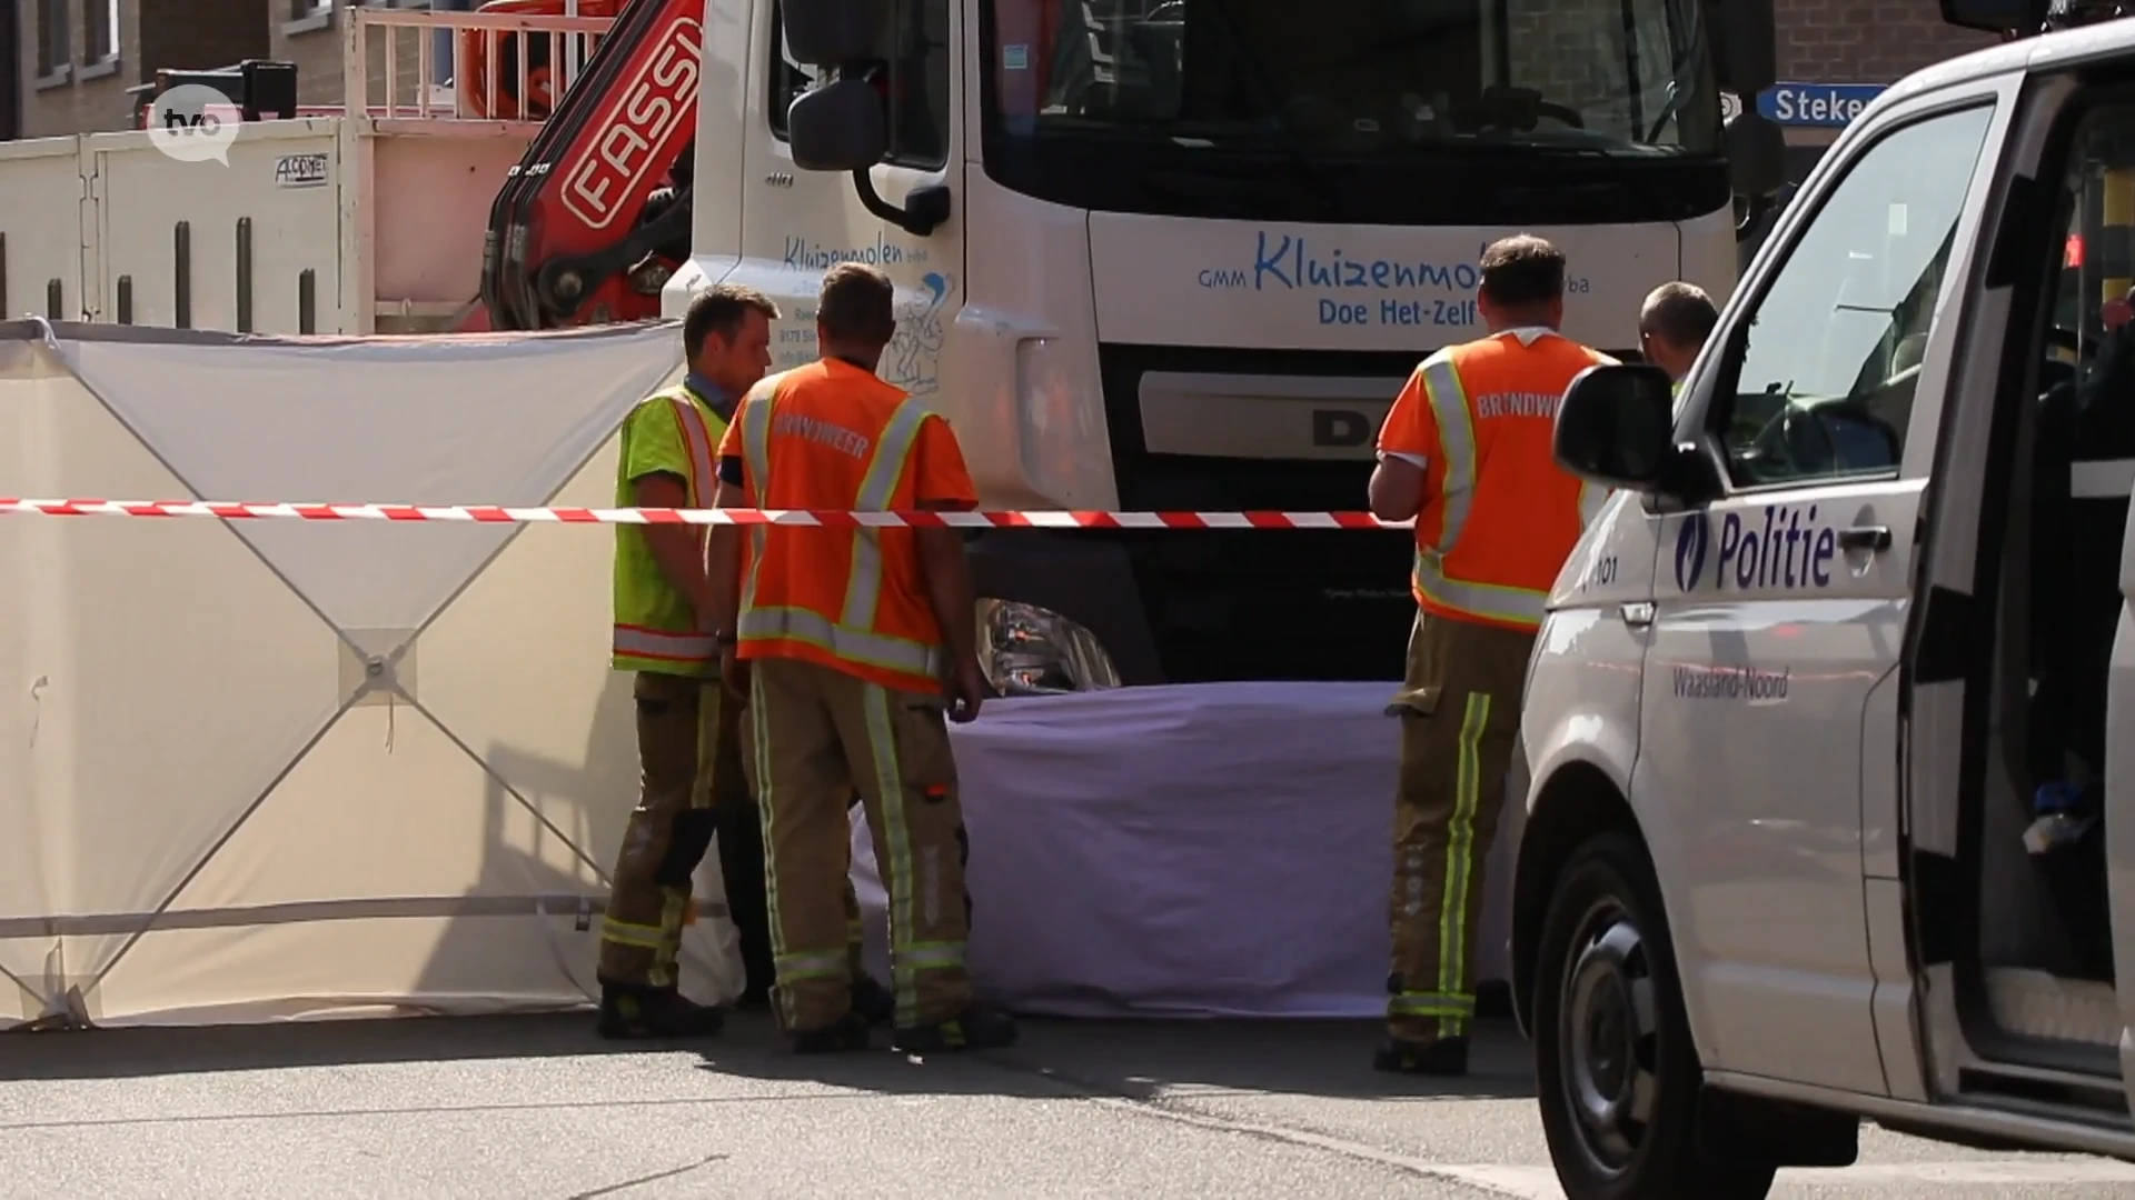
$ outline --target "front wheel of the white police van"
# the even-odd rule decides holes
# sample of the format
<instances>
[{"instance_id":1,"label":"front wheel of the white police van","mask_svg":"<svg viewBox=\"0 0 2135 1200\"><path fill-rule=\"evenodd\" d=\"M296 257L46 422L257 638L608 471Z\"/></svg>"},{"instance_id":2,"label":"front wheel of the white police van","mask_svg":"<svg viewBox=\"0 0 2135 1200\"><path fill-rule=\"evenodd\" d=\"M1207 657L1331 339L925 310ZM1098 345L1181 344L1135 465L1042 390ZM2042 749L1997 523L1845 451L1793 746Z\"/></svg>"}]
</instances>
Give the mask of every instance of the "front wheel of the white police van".
<instances>
[{"instance_id":1,"label":"front wheel of the white police van","mask_svg":"<svg viewBox=\"0 0 2135 1200\"><path fill-rule=\"evenodd\" d=\"M1620 833L1556 882L1535 963L1541 1132L1569 1200L1761 1200L1776 1166L1702 1144L1702 1068L1661 886Z\"/></svg>"}]
</instances>

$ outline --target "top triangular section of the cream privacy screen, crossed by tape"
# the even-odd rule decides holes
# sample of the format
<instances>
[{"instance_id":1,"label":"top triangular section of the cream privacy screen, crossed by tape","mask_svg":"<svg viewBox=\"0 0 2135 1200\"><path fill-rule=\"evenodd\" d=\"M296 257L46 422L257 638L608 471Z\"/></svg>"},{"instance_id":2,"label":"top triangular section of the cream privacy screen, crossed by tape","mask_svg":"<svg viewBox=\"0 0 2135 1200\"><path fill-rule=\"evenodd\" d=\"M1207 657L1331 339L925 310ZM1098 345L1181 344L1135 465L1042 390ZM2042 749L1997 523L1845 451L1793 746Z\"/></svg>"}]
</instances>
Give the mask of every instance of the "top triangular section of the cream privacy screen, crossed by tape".
<instances>
[{"instance_id":1,"label":"top triangular section of the cream privacy screen, crossed by tape","mask_svg":"<svg viewBox=\"0 0 2135 1200\"><path fill-rule=\"evenodd\" d=\"M677 361L630 340L327 342L254 348L233 389L222 346L66 350L194 495L384 504L542 504ZM393 493L376 493L386 480ZM335 626L414 630L510 530L254 523L239 536Z\"/></svg>"}]
</instances>

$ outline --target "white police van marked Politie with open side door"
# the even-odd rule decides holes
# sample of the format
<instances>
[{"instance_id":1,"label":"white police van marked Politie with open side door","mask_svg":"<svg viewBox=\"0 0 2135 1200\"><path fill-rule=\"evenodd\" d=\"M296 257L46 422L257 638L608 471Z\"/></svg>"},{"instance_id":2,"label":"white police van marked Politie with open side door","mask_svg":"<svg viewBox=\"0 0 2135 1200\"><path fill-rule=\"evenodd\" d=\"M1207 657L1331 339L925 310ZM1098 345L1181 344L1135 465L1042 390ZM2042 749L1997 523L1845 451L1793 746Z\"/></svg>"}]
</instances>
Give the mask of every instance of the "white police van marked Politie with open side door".
<instances>
[{"instance_id":1,"label":"white police van marked Politie with open side door","mask_svg":"<svg viewBox=\"0 0 2135 1200\"><path fill-rule=\"evenodd\" d=\"M1531 664L1512 961L1573 1200L1766 1196L1864 1117L2135 1159L2131 226L2135 21L1971 53L1680 399L1565 393L1618 493Z\"/></svg>"}]
</instances>

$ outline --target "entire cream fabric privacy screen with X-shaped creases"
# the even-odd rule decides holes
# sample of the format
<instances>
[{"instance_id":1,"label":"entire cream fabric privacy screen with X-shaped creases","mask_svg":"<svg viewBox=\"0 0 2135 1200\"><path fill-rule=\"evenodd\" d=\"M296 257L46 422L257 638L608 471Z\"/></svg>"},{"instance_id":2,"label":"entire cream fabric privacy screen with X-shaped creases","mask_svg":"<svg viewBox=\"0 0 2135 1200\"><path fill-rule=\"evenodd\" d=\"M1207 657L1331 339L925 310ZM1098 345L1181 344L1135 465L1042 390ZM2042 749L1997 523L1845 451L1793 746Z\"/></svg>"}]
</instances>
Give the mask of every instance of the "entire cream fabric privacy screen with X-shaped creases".
<instances>
[{"instance_id":1,"label":"entire cream fabric privacy screen with X-shaped creases","mask_svg":"<svg viewBox=\"0 0 2135 1200\"><path fill-rule=\"evenodd\" d=\"M0 325L0 495L604 506L677 342ZM636 799L611 555L606 527L0 517L0 1014L583 1004ZM698 888L717 914L715 865ZM698 922L683 986L739 993L734 950Z\"/></svg>"}]
</instances>

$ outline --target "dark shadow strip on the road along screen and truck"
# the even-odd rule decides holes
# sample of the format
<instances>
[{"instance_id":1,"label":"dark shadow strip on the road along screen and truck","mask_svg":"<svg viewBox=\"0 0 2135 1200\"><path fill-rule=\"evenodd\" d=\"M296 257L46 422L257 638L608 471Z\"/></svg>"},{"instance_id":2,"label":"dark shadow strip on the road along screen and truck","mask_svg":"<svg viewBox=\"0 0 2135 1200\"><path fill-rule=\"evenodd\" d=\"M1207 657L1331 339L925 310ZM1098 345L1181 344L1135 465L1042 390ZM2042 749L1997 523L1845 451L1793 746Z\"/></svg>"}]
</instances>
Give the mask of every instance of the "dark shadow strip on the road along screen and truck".
<instances>
[{"instance_id":1,"label":"dark shadow strip on the road along screen and truck","mask_svg":"<svg viewBox=\"0 0 2135 1200\"><path fill-rule=\"evenodd\" d=\"M81 1080L196 1072L694 1053L700 1070L888 1095L1196 1093L1317 1098L1531 1098L1529 1048L1512 1023L1477 1029L1467 1078L1371 1070L1371 1021L1040 1021L1008 1051L914 1059L888 1051L796 1057L769 1014L741 1012L709 1042L604 1042L589 1012L410 1016L286 1025L94 1029L0 1036L0 1078Z\"/></svg>"}]
</instances>

